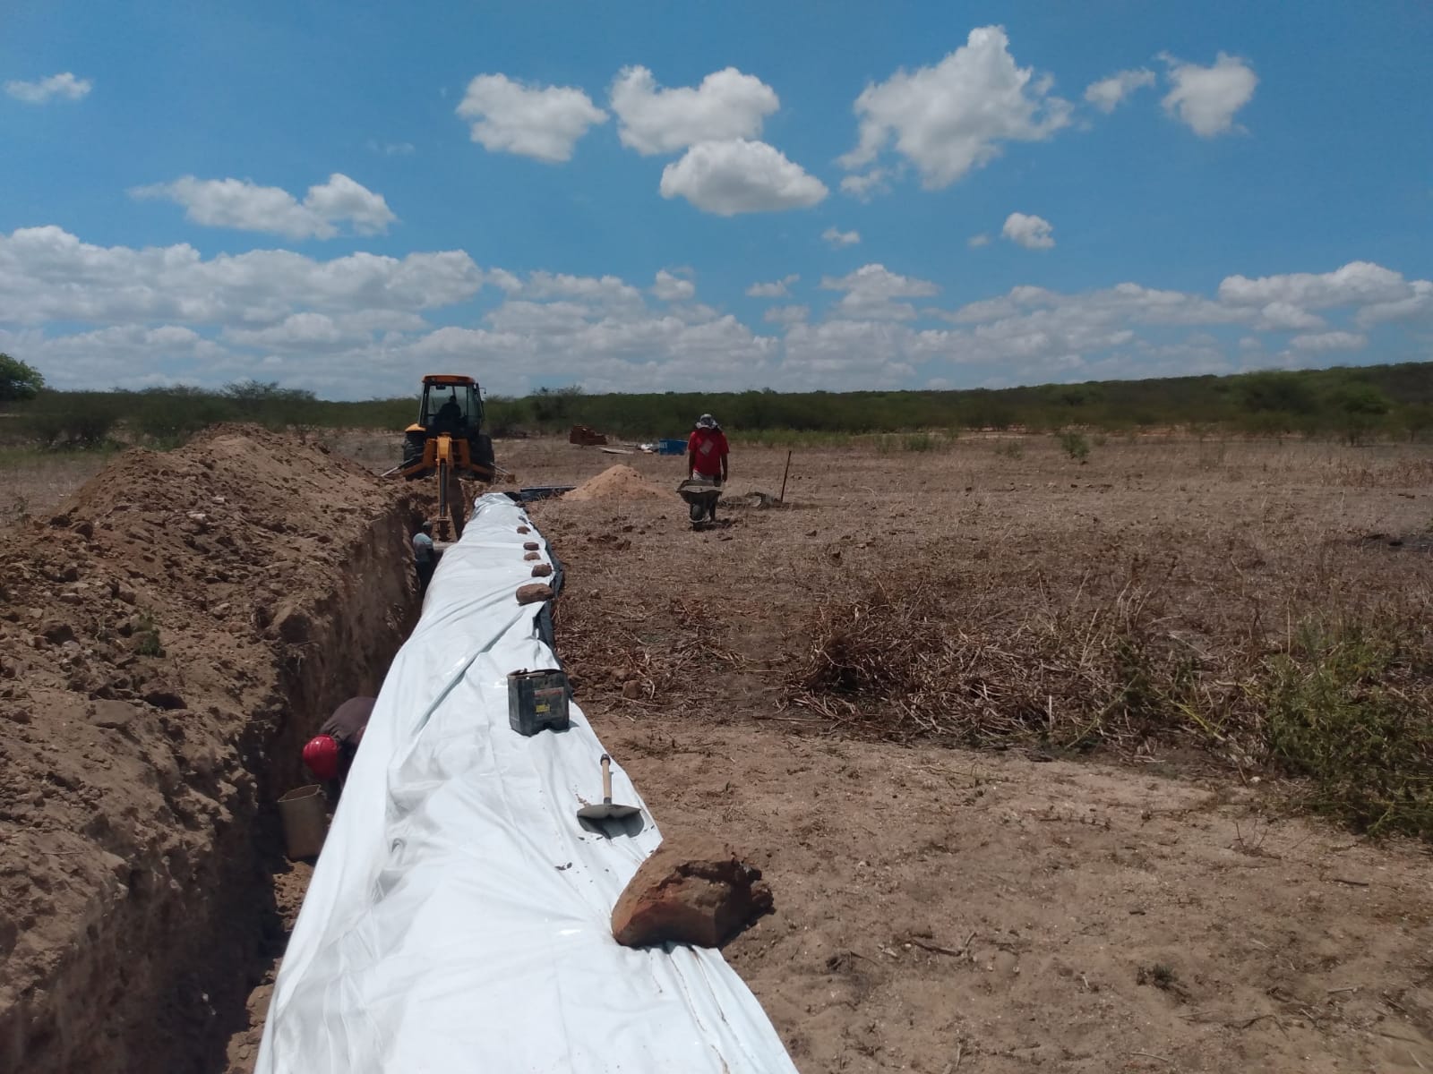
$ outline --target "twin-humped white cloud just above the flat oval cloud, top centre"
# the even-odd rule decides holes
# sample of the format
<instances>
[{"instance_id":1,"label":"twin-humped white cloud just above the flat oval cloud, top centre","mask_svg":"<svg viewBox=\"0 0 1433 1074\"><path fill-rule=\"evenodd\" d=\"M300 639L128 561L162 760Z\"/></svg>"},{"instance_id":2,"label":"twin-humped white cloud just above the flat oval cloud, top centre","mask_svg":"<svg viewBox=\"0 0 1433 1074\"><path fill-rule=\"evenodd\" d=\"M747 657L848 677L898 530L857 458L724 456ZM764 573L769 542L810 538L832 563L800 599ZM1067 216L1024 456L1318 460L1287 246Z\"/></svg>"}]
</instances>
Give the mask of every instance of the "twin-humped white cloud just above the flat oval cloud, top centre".
<instances>
[{"instance_id":1,"label":"twin-humped white cloud just above the flat oval cloud, top centre","mask_svg":"<svg viewBox=\"0 0 1433 1074\"><path fill-rule=\"evenodd\" d=\"M777 92L754 74L725 67L696 87L662 89L646 67L623 67L609 95L622 145L651 156L698 142L754 139L781 107Z\"/></svg>"}]
</instances>

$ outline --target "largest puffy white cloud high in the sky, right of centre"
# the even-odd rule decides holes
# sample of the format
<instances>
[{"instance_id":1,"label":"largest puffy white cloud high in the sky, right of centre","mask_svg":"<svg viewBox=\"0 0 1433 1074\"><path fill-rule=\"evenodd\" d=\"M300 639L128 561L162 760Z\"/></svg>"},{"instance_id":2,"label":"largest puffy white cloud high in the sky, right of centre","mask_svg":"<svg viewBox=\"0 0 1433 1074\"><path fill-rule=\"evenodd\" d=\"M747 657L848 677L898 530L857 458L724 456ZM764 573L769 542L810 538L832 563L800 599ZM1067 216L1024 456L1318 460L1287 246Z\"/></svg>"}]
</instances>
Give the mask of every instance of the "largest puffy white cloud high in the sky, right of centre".
<instances>
[{"instance_id":1,"label":"largest puffy white cloud high in the sky, right of centre","mask_svg":"<svg viewBox=\"0 0 1433 1074\"><path fill-rule=\"evenodd\" d=\"M841 165L864 168L894 140L927 189L949 186L1002 142L1040 142L1069 125L1069 102L1050 84L1015 64L1002 27L979 27L940 63L867 86L854 106L860 140Z\"/></svg>"}]
</instances>

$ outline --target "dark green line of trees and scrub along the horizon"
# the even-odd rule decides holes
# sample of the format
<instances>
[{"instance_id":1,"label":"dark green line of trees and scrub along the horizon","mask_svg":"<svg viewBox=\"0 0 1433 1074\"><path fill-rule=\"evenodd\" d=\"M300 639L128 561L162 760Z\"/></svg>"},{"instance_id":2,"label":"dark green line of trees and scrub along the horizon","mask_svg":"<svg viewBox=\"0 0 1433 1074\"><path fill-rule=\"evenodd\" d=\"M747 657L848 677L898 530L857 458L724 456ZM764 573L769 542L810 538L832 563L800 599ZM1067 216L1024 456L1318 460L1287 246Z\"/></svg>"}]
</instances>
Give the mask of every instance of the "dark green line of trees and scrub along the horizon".
<instances>
[{"instance_id":1,"label":"dark green line of trees and scrub along the horizon","mask_svg":"<svg viewBox=\"0 0 1433 1074\"><path fill-rule=\"evenodd\" d=\"M493 395L484 407L487 428L496 437L566 432L575 424L628 440L685 437L699 414L711 412L737 438L1187 428L1337 435L1351 442L1424 440L1433 437L1433 362L949 391L598 395L543 388L522 398ZM0 355L0 412L11 418L0 430L10 442L83 448L125 434L129 441L166 447L231 421L398 432L417 414L417 392L340 402L252 379L222 388L54 391L32 367Z\"/></svg>"}]
</instances>

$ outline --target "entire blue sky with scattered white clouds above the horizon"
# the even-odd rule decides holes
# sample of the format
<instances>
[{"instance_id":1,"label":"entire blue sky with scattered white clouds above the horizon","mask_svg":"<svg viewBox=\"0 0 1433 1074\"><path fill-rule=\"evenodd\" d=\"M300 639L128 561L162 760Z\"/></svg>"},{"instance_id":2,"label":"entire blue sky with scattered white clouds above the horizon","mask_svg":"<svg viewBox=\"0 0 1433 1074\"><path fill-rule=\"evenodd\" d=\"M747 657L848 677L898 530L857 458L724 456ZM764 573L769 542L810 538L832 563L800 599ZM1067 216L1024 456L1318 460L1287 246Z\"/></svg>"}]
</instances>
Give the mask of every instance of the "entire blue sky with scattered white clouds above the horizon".
<instances>
[{"instance_id":1,"label":"entire blue sky with scattered white clouds above the horizon","mask_svg":"<svg viewBox=\"0 0 1433 1074\"><path fill-rule=\"evenodd\" d=\"M997 387L1433 351L1424 3L0 19L0 349L56 387Z\"/></svg>"}]
</instances>

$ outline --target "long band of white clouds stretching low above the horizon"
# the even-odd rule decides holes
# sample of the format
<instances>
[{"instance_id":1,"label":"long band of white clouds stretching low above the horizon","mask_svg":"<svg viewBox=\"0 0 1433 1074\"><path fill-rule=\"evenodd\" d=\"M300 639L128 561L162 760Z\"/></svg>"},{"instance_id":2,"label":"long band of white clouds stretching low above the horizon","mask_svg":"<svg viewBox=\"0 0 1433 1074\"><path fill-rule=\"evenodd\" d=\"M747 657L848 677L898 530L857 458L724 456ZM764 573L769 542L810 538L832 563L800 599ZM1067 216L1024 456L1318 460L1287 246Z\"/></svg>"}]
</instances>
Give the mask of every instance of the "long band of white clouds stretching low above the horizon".
<instances>
[{"instance_id":1,"label":"long band of white clouds stretching low above the horizon","mask_svg":"<svg viewBox=\"0 0 1433 1074\"><path fill-rule=\"evenodd\" d=\"M63 388L282 375L365 398L407 391L434 364L451 364L504 394L545 382L837 391L1232 372L1275 354L1290 367L1413 358L1426 349L1413 321L1433 315L1433 282L1370 262L1230 276L1217 295L1022 285L976 292L952 311L931 308L933 281L870 263L824 278L810 306L782 302L749 325L695 301L691 282L681 266L643 286L610 274L483 269L463 251L205 258L182 243L96 246L56 226L21 228L0 233L0 351ZM795 282L749 292L781 299ZM497 301L470 305L484 288ZM1356 331L1366 315L1377 339ZM1304 324L1313 326L1295 326Z\"/></svg>"}]
</instances>

